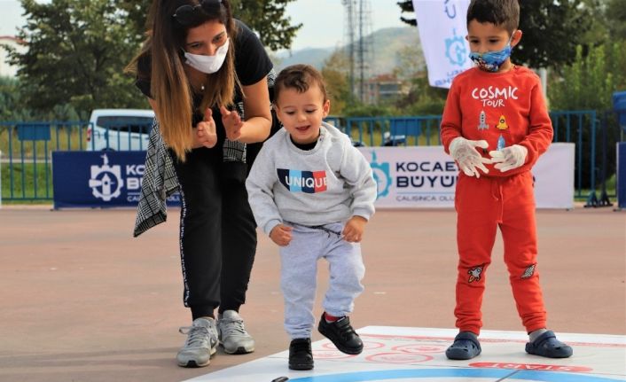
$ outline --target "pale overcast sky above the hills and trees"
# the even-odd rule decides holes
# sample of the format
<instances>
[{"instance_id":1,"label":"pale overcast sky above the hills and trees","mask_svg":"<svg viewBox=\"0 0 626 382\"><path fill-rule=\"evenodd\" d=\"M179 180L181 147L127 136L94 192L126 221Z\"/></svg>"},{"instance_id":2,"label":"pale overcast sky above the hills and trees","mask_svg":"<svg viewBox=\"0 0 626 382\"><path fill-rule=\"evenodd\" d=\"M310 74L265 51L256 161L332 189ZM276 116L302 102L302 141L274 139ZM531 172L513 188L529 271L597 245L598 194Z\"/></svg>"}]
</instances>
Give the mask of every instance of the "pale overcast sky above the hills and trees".
<instances>
[{"instance_id":1,"label":"pale overcast sky above the hills and trees","mask_svg":"<svg viewBox=\"0 0 626 382\"><path fill-rule=\"evenodd\" d=\"M400 8L395 4L397 0L369 1L372 31L383 27L406 26L400 21ZM15 35L15 28L24 25L21 13L18 0L0 0L0 35ZM287 5L287 14L293 23L302 23L293 41L293 51L345 43L345 15L341 0L296 0Z\"/></svg>"}]
</instances>

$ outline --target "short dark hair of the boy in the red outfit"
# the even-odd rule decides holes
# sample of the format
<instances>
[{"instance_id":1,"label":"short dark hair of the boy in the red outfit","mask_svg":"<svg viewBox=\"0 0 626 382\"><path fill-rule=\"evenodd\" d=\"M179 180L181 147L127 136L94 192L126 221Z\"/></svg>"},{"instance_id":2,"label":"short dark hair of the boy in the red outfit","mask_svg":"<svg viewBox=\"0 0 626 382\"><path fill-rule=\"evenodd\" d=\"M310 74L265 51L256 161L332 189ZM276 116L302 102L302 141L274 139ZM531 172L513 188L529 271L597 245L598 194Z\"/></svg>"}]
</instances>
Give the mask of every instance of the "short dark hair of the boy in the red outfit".
<instances>
[{"instance_id":1,"label":"short dark hair of the boy in the red outfit","mask_svg":"<svg viewBox=\"0 0 626 382\"><path fill-rule=\"evenodd\" d=\"M504 27L509 35L520 25L518 0L472 0L467 8L467 25L475 19Z\"/></svg>"}]
</instances>

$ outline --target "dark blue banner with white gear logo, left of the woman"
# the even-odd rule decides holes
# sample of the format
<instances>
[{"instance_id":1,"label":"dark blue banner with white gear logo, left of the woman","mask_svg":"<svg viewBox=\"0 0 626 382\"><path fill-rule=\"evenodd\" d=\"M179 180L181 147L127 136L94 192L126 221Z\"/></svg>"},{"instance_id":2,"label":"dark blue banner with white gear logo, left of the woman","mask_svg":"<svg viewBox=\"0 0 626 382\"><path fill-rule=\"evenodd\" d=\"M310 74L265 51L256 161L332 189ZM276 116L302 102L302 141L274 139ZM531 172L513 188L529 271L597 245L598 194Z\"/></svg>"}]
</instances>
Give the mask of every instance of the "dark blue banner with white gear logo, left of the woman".
<instances>
[{"instance_id":1,"label":"dark blue banner with white gear logo, left of the woman","mask_svg":"<svg viewBox=\"0 0 626 382\"><path fill-rule=\"evenodd\" d=\"M145 152L52 152L54 208L137 207L144 163Z\"/></svg>"}]
</instances>

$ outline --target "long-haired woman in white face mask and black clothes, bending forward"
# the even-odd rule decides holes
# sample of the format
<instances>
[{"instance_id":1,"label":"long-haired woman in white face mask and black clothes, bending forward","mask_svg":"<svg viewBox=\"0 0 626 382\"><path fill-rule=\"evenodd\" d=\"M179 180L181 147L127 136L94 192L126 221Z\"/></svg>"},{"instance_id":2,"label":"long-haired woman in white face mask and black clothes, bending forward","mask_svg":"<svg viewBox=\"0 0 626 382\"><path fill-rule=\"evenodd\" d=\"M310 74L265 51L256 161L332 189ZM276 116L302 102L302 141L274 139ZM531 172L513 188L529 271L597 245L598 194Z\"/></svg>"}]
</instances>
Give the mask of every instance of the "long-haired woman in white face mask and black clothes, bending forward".
<instances>
[{"instance_id":1,"label":"long-haired woman in white face mask and black clothes, bending forward","mask_svg":"<svg viewBox=\"0 0 626 382\"><path fill-rule=\"evenodd\" d=\"M181 328L188 337L176 358L206 366L218 341L229 354L254 351L239 316L256 250L246 144L270 134L272 64L228 0L154 1L149 27L130 68L156 113L153 136L168 148L181 195L184 305L193 321ZM151 160L149 148L146 173Z\"/></svg>"}]
</instances>

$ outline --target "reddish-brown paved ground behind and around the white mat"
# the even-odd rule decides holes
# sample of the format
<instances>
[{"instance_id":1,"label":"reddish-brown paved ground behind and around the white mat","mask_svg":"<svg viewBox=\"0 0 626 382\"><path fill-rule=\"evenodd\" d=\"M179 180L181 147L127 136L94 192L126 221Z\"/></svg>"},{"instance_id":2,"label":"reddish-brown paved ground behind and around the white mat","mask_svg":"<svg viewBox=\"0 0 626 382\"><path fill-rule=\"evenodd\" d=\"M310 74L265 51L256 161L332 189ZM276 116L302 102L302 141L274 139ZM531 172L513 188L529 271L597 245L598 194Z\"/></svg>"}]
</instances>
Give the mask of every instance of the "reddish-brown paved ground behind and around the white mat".
<instances>
[{"instance_id":1,"label":"reddish-brown paved ground behind and around the white mat","mask_svg":"<svg viewBox=\"0 0 626 382\"><path fill-rule=\"evenodd\" d=\"M0 208L0 381L179 381L285 350L278 247L260 233L240 312L256 351L176 366L178 328L191 324L178 218L170 209L168 222L132 238L131 209ZM356 328L454 327L455 219L451 209L377 212L364 236ZM626 335L626 213L539 210L537 226L549 327ZM326 278L320 267L316 316ZM484 329L522 331L500 238L487 280Z\"/></svg>"}]
</instances>

